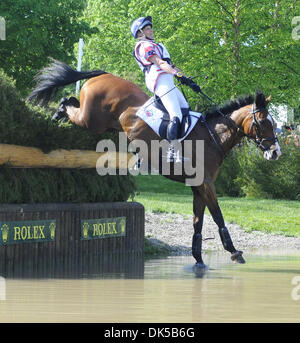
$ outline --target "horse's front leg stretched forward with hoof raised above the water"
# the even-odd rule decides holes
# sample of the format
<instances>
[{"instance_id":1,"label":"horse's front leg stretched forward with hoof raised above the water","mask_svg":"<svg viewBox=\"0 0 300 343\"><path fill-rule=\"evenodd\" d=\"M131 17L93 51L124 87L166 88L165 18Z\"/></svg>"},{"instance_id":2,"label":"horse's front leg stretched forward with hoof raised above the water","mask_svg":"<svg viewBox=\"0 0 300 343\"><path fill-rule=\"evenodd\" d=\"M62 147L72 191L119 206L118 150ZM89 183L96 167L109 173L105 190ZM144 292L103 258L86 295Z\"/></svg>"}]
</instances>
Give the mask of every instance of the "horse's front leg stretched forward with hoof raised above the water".
<instances>
[{"instance_id":1,"label":"horse's front leg stretched forward with hoof raised above the water","mask_svg":"<svg viewBox=\"0 0 300 343\"><path fill-rule=\"evenodd\" d=\"M225 250L231 253L231 259L237 263L245 263L245 260L242 256L243 252L236 250L233 242L231 240L229 231L225 226L223 215L218 204L217 195L215 187L213 184L205 184L205 196L206 196L206 205L209 209L210 214L213 217L214 222L218 225L219 235Z\"/></svg>"}]
</instances>

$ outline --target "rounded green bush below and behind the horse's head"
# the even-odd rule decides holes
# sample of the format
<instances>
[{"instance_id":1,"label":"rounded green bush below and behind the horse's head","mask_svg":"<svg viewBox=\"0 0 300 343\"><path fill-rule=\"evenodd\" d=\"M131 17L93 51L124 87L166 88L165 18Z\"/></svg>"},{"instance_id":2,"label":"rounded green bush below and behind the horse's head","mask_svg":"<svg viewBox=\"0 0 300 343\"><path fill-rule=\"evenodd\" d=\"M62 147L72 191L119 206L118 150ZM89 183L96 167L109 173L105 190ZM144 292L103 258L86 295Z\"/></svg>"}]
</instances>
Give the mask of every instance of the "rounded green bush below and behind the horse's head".
<instances>
[{"instance_id":1,"label":"rounded green bush below and behind the horse's head","mask_svg":"<svg viewBox=\"0 0 300 343\"><path fill-rule=\"evenodd\" d=\"M267 161L252 143L236 148L220 168L216 181L221 195L300 199L300 148L280 141L282 155Z\"/></svg>"}]
</instances>

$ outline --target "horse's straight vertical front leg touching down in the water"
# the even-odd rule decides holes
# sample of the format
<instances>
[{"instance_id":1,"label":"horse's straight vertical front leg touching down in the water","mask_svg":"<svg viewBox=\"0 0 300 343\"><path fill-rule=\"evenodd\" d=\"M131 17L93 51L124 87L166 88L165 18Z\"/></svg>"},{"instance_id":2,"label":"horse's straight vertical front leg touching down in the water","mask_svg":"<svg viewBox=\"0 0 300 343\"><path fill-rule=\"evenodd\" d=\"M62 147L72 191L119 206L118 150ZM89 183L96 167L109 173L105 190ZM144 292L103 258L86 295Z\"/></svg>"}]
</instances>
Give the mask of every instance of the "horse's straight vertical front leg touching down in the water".
<instances>
[{"instance_id":1,"label":"horse's straight vertical front leg touching down in the water","mask_svg":"<svg viewBox=\"0 0 300 343\"><path fill-rule=\"evenodd\" d=\"M205 200L203 199L203 193L198 188L192 187L193 191L193 212L194 212L194 235L192 241L192 255L196 260L195 267L197 269L206 269L207 266L202 260L202 226L205 210Z\"/></svg>"}]
</instances>

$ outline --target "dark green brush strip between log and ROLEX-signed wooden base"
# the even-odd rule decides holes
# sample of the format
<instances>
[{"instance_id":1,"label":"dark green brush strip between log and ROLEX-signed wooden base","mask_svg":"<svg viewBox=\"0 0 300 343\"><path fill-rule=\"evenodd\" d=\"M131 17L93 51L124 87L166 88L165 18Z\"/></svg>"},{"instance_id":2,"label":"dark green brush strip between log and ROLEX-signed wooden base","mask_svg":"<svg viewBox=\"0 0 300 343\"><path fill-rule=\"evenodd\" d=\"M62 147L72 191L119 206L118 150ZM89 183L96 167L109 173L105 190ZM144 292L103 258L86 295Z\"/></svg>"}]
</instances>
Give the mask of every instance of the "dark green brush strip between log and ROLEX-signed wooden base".
<instances>
[{"instance_id":1,"label":"dark green brush strip between log and ROLEX-signed wooden base","mask_svg":"<svg viewBox=\"0 0 300 343\"><path fill-rule=\"evenodd\" d=\"M0 167L0 203L127 201L135 187L127 176L99 176L96 170Z\"/></svg>"}]
</instances>

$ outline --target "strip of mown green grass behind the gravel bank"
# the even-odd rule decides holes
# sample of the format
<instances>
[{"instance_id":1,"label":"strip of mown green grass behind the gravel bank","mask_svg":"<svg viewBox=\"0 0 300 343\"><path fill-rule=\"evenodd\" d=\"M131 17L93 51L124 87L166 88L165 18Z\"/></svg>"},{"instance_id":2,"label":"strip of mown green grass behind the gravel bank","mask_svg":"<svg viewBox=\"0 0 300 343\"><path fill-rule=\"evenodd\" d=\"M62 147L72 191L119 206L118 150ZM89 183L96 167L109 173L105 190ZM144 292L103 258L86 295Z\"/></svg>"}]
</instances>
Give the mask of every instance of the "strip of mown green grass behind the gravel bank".
<instances>
[{"instance_id":1,"label":"strip of mown green grass behind the gravel bank","mask_svg":"<svg viewBox=\"0 0 300 343\"><path fill-rule=\"evenodd\" d=\"M160 175L138 175L139 194L135 201L146 211L193 214L190 187ZM300 237L300 201L220 197L219 204L226 222L236 223L246 231ZM209 212L206 210L206 213Z\"/></svg>"}]
</instances>

